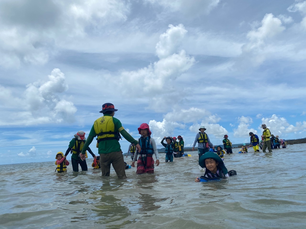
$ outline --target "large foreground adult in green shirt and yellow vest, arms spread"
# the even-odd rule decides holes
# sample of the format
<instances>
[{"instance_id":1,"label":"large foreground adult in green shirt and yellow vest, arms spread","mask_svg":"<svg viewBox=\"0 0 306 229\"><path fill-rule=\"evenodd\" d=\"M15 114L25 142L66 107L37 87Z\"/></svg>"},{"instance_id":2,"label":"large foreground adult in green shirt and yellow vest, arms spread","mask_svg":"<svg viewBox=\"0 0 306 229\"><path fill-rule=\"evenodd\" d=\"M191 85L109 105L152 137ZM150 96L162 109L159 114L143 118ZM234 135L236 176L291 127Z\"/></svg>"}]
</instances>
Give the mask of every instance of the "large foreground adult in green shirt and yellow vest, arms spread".
<instances>
[{"instance_id":1,"label":"large foreground adult in green shirt and yellow vest, arms spread","mask_svg":"<svg viewBox=\"0 0 306 229\"><path fill-rule=\"evenodd\" d=\"M80 156L83 157L92 140L98 136L97 147L100 154L102 176L110 176L110 165L112 164L118 178L125 179L125 165L119 144L119 138L121 138L119 133L127 141L135 144L138 152L141 151L141 148L138 141L126 132L119 119L114 118L115 111L118 110L115 109L114 104L106 103L102 105L102 111L99 112L103 113L103 116L92 125Z\"/></svg>"}]
</instances>

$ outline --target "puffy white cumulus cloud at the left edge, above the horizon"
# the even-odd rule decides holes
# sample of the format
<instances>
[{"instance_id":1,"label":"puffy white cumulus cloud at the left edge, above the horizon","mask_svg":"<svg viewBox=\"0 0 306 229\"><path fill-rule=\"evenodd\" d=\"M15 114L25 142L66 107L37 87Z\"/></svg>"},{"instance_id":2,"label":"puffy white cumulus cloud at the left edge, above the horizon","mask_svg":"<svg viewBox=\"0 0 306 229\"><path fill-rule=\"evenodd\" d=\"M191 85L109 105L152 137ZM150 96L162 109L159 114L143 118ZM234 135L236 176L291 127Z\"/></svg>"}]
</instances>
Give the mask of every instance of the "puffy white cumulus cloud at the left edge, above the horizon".
<instances>
[{"instance_id":1,"label":"puffy white cumulus cloud at the left edge, above the horizon","mask_svg":"<svg viewBox=\"0 0 306 229\"><path fill-rule=\"evenodd\" d=\"M65 76L60 69L55 68L48 76L49 80L30 83L21 98L14 96L12 91L0 85L0 95L4 94L3 104L11 104L18 109L17 115L2 120L2 125L14 125L21 118L25 125L35 125L52 122L73 122L76 107L72 102L60 96L68 89Z\"/></svg>"}]
</instances>

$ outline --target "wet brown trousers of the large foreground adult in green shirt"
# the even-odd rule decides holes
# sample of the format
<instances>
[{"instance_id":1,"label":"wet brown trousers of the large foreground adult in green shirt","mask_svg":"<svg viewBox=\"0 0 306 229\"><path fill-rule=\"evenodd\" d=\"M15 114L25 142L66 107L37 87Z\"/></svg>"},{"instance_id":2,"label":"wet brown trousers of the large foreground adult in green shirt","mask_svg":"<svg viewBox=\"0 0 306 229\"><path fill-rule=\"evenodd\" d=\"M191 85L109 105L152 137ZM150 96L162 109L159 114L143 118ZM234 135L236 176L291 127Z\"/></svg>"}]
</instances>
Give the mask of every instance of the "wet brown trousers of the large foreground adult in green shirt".
<instances>
[{"instance_id":1,"label":"wet brown trousers of the large foreground adult in green shirt","mask_svg":"<svg viewBox=\"0 0 306 229\"><path fill-rule=\"evenodd\" d=\"M110 164L113 165L119 179L126 178L122 151L100 154L102 176L110 176Z\"/></svg>"}]
</instances>

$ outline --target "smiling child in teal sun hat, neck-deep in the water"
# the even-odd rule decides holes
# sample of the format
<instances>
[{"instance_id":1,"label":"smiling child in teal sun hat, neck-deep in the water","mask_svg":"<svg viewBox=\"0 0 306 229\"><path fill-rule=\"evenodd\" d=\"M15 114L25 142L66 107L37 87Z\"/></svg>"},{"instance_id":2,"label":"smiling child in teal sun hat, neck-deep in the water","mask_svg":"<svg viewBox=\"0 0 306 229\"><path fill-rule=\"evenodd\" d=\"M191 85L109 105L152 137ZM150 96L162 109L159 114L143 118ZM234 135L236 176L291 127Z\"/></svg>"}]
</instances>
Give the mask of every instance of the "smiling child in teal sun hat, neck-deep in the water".
<instances>
[{"instance_id":1,"label":"smiling child in teal sun hat, neck-deep in the water","mask_svg":"<svg viewBox=\"0 0 306 229\"><path fill-rule=\"evenodd\" d=\"M227 169L222 159L215 153L206 152L199 159L199 165L205 168L204 177L207 178L222 178L224 176L230 176L227 173ZM196 178L195 182L200 182L199 177Z\"/></svg>"}]
</instances>

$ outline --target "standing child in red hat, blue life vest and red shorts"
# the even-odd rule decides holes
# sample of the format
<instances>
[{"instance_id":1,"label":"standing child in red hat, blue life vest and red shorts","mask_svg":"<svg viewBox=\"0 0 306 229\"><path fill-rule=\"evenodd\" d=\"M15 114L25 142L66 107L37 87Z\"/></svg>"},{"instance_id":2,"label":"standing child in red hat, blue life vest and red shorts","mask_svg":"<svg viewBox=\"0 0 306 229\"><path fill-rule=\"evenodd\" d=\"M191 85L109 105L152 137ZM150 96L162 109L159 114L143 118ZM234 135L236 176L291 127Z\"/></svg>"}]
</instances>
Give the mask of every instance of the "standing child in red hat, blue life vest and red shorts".
<instances>
[{"instance_id":1,"label":"standing child in red hat, blue life vest and red shorts","mask_svg":"<svg viewBox=\"0 0 306 229\"><path fill-rule=\"evenodd\" d=\"M151 138L151 131L149 125L147 123L143 123L138 128L138 133L141 134L138 143L141 147L141 151L134 154L132 167L135 167L135 161L137 155L139 154L139 158L137 160L137 171L136 174L141 173L154 173L154 160L153 154L156 157L156 166L159 166L159 156L156 148L156 143L153 138Z\"/></svg>"}]
</instances>

